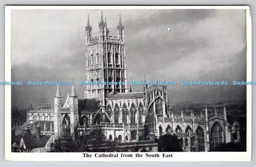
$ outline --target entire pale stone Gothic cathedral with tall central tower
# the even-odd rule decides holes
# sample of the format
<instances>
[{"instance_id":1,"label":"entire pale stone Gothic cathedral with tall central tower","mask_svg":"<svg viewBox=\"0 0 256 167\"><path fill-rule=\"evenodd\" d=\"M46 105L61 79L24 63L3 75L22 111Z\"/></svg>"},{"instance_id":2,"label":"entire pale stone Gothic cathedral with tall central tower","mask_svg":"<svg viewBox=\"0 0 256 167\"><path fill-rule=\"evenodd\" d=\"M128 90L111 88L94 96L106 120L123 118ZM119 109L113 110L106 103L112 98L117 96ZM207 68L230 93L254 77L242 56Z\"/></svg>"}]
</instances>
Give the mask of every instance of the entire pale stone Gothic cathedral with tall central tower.
<instances>
[{"instance_id":1,"label":"entire pale stone Gothic cathedral with tall central tower","mask_svg":"<svg viewBox=\"0 0 256 167\"><path fill-rule=\"evenodd\" d=\"M209 151L229 142L239 133L237 122L229 125L224 105L168 109L167 86L143 86L143 91L127 89L124 26L117 21L117 36L110 36L101 13L99 35L92 36L89 17L86 30L84 81L125 82L125 85L87 85L84 99L78 99L74 86L63 101L60 88L53 108L28 111L27 125L41 133L61 137L101 128L106 139L119 142L147 140L148 136L177 134L184 151ZM236 128L234 128L236 127ZM237 134L239 136L239 134ZM238 137L239 139L239 137Z\"/></svg>"}]
</instances>

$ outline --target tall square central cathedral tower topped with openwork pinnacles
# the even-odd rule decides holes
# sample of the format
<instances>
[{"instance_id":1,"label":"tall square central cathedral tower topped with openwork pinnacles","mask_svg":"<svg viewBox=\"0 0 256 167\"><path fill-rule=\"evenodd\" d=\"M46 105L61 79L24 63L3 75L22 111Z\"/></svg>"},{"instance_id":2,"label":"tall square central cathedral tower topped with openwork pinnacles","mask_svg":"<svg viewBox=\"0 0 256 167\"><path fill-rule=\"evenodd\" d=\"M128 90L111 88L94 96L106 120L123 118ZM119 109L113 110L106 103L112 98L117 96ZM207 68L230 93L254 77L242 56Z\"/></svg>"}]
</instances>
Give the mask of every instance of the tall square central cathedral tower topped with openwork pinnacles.
<instances>
[{"instance_id":1,"label":"tall square central cathedral tower topped with openwork pinnacles","mask_svg":"<svg viewBox=\"0 0 256 167\"><path fill-rule=\"evenodd\" d=\"M102 11L98 23L99 34L92 37L89 17L86 25L86 70L84 81L87 82L125 82L124 85L86 85L85 99L97 99L105 105L105 96L110 92L127 92L127 71L124 46L124 26L119 17L117 37L109 36L109 28Z\"/></svg>"}]
</instances>

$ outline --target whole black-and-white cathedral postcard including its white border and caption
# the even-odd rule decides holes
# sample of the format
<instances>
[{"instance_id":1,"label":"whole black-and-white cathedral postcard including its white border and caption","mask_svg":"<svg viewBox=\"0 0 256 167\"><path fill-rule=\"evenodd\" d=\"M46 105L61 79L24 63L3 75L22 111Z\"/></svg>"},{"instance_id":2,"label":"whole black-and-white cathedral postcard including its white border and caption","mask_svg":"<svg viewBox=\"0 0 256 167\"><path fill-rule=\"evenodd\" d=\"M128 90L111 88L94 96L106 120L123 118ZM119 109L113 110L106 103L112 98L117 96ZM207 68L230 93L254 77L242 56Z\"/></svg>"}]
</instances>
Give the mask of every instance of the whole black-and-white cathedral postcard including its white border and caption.
<instances>
[{"instance_id":1,"label":"whole black-and-white cathedral postcard including its white border and caption","mask_svg":"<svg viewBox=\"0 0 256 167\"><path fill-rule=\"evenodd\" d=\"M250 157L256 82L247 6L6 13L10 160Z\"/></svg>"}]
</instances>

